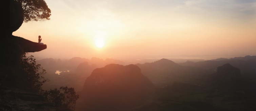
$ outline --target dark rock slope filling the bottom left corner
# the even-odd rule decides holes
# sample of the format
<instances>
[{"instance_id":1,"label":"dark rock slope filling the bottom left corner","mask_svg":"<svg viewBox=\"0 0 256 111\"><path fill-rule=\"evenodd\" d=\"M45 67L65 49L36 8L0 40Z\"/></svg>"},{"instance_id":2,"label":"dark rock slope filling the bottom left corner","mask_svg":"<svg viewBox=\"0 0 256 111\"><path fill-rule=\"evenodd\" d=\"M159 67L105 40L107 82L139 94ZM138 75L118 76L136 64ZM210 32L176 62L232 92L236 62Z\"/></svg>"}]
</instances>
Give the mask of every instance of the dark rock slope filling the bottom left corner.
<instances>
[{"instance_id":1,"label":"dark rock slope filling the bottom left corner","mask_svg":"<svg viewBox=\"0 0 256 111\"><path fill-rule=\"evenodd\" d=\"M3 88L0 98L1 111L58 111L51 103L37 93L17 88Z\"/></svg>"}]
</instances>

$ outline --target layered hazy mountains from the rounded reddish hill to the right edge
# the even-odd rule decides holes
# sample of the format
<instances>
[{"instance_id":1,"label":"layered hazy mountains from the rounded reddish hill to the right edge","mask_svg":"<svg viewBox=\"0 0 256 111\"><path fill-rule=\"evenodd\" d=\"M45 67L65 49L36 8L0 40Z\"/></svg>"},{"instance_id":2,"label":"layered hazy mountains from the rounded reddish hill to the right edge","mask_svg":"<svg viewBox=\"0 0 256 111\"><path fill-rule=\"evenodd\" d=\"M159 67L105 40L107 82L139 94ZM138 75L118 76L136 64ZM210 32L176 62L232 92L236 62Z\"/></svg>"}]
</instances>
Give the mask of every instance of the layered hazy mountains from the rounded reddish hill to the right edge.
<instances>
[{"instance_id":1,"label":"layered hazy mountains from the rounded reddish hill to the right edge","mask_svg":"<svg viewBox=\"0 0 256 111\"><path fill-rule=\"evenodd\" d=\"M253 58L108 64L93 70L85 80L80 92L83 100L77 109L255 111L256 60ZM83 62L77 69L92 66Z\"/></svg>"}]
</instances>

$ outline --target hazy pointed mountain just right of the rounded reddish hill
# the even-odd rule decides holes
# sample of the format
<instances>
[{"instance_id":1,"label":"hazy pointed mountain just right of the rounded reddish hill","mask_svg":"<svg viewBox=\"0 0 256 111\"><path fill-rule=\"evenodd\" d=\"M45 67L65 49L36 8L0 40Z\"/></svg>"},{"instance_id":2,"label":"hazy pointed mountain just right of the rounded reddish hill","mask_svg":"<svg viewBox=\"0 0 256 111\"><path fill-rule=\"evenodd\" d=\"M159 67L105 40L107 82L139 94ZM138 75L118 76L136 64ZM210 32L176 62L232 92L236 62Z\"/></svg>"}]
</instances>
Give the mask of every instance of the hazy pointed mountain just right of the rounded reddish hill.
<instances>
[{"instance_id":1,"label":"hazy pointed mountain just right of the rounded reddish hill","mask_svg":"<svg viewBox=\"0 0 256 111\"><path fill-rule=\"evenodd\" d=\"M174 81L186 81L206 73L202 68L183 66L168 59L135 65L139 66L142 74L157 86L171 84Z\"/></svg>"}]
</instances>

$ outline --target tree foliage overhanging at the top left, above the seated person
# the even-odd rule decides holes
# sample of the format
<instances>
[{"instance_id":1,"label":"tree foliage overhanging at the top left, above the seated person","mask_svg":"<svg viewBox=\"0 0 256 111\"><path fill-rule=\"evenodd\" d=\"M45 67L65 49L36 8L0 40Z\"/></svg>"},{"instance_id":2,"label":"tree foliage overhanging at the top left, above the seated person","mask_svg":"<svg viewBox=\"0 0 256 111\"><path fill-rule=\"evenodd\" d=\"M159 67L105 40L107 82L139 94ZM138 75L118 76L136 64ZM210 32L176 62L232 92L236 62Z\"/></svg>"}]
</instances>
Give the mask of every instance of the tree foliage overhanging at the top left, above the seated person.
<instances>
[{"instance_id":1,"label":"tree foliage overhanging at the top left, above the seated person","mask_svg":"<svg viewBox=\"0 0 256 111\"><path fill-rule=\"evenodd\" d=\"M16 0L24 9L24 22L50 20L51 9L44 0Z\"/></svg>"}]
</instances>

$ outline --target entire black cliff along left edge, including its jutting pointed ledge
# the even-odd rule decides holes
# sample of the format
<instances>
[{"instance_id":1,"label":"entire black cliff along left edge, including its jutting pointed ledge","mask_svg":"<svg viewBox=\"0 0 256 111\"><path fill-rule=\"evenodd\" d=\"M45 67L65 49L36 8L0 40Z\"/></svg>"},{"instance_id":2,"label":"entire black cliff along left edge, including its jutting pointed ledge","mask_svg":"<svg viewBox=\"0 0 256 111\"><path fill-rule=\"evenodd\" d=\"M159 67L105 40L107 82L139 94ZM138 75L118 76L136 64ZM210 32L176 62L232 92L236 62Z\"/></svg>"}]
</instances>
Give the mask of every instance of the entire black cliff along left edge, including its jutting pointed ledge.
<instances>
[{"instance_id":1,"label":"entire black cliff along left edge, including its jutting pointed ledge","mask_svg":"<svg viewBox=\"0 0 256 111\"><path fill-rule=\"evenodd\" d=\"M22 4L20 2L9 0L9 3L9 15L3 13L3 16L9 18L9 21L3 21L4 23L0 33L0 110L55 111L56 108L45 102L41 98L41 95L14 88L16 87L13 85L13 83L15 83L14 80L20 79L15 75L20 73L17 72L17 69L21 61L21 55L26 52L42 51L46 49L47 46L12 35L12 33L18 30L22 25L24 17ZM48 107L50 109L48 109Z\"/></svg>"}]
</instances>

